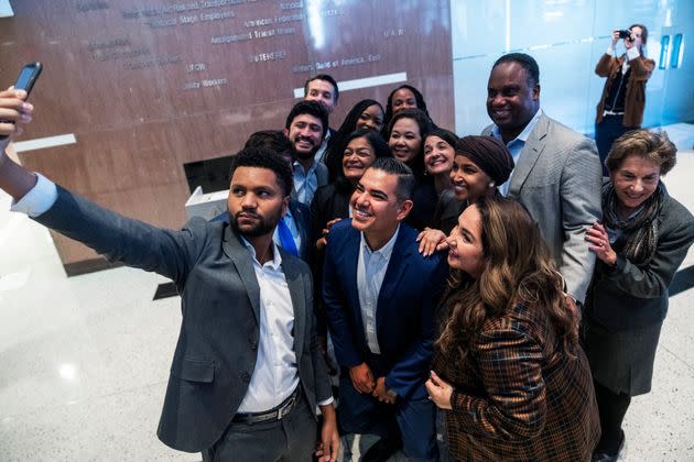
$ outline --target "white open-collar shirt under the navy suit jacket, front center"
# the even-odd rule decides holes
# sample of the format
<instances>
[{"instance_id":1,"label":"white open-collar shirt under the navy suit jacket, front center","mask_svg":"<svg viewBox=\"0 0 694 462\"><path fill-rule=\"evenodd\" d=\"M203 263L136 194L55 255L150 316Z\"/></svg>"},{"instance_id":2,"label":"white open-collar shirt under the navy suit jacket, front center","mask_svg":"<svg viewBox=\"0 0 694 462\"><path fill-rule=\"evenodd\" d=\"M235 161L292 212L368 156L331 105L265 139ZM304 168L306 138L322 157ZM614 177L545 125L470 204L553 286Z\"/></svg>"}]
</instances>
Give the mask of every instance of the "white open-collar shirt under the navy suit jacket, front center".
<instances>
[{"instance_id":1,"label":"white open-collar shirt under the navy suit jacket, front center","mask_svg":"<svg viewBox=\"0 0 694 462\"><path fill-rule=\"evenodd\" d=\"M366 333L367 345L373 354L381 354L376 331L376 310L378 308L378 295L383 285L383 278L388 271L388 263L395 246L400 226L390 238L390 241L377 251L372 251L367 243L364 233L359 243L359 263L357 264L357 290L359 292L359 305L361 308L361 322Z\"/></svg>"}]
</instances>

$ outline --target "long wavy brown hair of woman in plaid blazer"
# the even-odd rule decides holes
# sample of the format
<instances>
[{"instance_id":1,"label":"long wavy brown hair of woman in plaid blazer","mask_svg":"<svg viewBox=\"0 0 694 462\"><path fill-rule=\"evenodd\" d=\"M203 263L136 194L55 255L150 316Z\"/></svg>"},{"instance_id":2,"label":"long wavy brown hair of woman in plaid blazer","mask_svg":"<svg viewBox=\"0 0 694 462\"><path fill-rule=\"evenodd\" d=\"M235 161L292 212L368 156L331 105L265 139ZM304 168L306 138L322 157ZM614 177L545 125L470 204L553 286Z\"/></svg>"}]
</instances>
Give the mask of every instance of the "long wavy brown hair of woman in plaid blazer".
<instances>
[{"instance_id":1,"label":"long wavy brown hair of woman in plaid blazer","mask_svg":"<svg viewBox=\"0 0 694 462\"><path fill-rule=\"evenodd\" d=\"M470 207L481 215L484 268L477 279L452 271L444 296L449 315L437 346L445 355L465 358L485 321L523 304L546 311L560 348L574 356L578 315L566 301L564 279L528 210L501 196L481 197Z\"/></svg>"}]
</instances>

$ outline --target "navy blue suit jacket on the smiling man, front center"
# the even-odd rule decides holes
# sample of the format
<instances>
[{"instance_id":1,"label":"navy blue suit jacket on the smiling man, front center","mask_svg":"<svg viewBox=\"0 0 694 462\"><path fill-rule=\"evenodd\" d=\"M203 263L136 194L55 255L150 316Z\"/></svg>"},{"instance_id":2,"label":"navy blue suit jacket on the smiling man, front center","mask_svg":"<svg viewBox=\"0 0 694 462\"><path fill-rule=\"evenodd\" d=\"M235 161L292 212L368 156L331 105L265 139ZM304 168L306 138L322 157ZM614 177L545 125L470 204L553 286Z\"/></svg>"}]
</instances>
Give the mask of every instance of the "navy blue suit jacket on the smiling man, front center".
<instances>
[{"instance_id":1,"label":"navy blue suit jacket on the smiling man, front center","mask_svg":"<svg viewBox=\"0 0 694 462\"><path fill-rule=\"evenodd\" d=\"M376 333L388 371L386 386L404 399L426 396L423 384L432 356L434 307L447 273L442 253L426 258L420 254L416 235L415 230L400 224L376 310ZM335 356L343 367L361 364L369 354L357 288L359 250L360 232L351 220L333 227L323 299Z\"/></svg>"}]
</instances>

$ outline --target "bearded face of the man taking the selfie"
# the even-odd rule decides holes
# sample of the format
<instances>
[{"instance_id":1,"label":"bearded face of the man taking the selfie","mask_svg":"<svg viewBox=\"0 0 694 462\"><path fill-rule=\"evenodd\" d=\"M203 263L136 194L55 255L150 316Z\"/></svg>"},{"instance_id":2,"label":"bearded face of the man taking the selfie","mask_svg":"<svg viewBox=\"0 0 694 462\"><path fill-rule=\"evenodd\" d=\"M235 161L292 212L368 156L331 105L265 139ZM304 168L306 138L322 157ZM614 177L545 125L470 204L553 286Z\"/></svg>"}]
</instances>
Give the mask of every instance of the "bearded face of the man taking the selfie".
<instances>
[{"instance_id":1,"label":"bearded face of the man taking the selfie","mask_svg":"<svg viewBox=\"0 0 694 462\"><path fill-rule=\"evenodd\" d=\"M271 234L286 212L289 196L274 172L260 167L238 167L231 177L227 207L231 226L242 235Z\"/></svg>"}]
</instances>

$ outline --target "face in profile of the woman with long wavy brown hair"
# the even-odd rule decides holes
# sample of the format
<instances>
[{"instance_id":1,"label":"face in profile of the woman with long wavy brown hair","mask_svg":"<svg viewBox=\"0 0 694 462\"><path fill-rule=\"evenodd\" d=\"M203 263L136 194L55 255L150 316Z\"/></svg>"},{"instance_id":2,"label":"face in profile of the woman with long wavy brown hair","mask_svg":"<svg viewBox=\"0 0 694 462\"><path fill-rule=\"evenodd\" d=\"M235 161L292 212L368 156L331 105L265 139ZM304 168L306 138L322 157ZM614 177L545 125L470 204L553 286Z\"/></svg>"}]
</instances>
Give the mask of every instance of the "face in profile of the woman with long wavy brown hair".
<instances>
[{"instance_id":1,"label":"face in profile of the woman with long wavy brown hair","mask_svg":"<svg viewBox=\"0 0 694 462\"><path fill-rule=\"evenodd\" d=\"M458 217L458 226L446 239L448 265L477 279L485 268L481 243L481 213L476 206L466 208Z\"/></svg>"}]
</instances>

